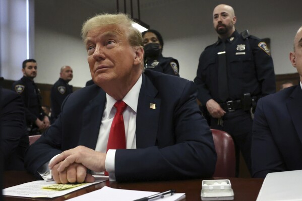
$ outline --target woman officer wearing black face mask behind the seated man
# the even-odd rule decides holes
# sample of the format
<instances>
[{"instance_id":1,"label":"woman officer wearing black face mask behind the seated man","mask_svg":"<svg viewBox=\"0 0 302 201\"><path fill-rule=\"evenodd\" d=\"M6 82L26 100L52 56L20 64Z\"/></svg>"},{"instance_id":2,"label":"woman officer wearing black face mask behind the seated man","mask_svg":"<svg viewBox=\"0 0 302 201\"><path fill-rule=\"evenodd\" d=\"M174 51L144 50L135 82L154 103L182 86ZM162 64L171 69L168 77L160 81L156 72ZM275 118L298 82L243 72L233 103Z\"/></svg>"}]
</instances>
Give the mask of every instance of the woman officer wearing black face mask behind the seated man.
<instances>
[{"instance_id":1,"label":"woman officer wearing black face mask behind the seated man","mask_svg":"<svg viewBox=\"0 0 302 201\"><path fill-rule=\"evenodd\" d=\"M142 34L145 49L145 69L179 77L178 61L172 57L163 57L161 54L163 40L160 33L150 29Z\"/></svg>"}]
</instances>

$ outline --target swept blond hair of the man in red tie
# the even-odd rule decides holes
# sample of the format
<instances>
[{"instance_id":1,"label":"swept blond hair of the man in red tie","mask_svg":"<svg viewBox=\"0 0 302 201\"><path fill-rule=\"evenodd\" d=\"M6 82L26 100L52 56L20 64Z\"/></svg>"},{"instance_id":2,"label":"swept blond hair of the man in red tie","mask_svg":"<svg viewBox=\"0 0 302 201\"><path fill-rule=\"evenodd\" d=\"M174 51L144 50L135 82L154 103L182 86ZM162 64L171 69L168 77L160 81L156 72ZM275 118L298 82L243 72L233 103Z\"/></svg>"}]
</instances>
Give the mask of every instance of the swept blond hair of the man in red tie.
<instances>
[{"instance_id":1,"label":"swept blond hair of the man in red tie","mask_svg":"<svg viewBox=\"0 0 302 201\"><path fill-rule=\"evenodd\" d=\"M106 25L124 25L126 28L126 36L131 46L144 46L143 37L137 28L132 26L134 21L126 14L100 14L96 15L86 22L82 27L82 39L85 42L87 33L95 28Z\"/></svg>"}]
</instances>

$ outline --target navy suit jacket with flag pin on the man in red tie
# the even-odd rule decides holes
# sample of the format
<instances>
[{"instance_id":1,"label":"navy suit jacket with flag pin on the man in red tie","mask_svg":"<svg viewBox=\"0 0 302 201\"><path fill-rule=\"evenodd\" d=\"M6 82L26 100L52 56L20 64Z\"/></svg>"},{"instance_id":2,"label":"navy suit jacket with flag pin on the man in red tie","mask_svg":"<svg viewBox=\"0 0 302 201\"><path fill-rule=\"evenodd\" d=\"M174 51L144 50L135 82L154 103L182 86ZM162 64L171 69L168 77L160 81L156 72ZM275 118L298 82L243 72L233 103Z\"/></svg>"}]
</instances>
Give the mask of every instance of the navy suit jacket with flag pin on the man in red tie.
<instances>
[{"instance_id":1,"label":"navy suit jacket with flag pin on the man in red tie","mask_svg":"<svg viewBox=\"0 0 302 201\"><path fill-rule=\"evenodd\" d=\"M95 149L105 103L106 94L96 85L67 97L59 118L27 151L27 169L35 173L56 154L78 145ZM217 156L193 82L150 70L143 74L136 144L137 149L116 150L117 181L212 176Z\"/></svg>"}]
</instances>

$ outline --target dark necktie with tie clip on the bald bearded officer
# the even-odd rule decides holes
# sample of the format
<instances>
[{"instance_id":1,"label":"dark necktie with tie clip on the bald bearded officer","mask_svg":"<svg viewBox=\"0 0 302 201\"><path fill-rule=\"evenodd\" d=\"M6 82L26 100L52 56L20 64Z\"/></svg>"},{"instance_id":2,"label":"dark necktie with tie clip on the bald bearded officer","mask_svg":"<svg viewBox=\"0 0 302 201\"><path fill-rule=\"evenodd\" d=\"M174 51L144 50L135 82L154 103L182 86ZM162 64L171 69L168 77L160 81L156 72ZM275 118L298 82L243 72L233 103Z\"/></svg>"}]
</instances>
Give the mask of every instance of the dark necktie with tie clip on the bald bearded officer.
<instances>
[{"instance_id":1,"label":"dark necktie with tie clip on the bald bearded officer","mask_svg":"<svg viewBox=\"0 0 302 201\"><path fill-rule=\"evenodd\" d=\"M221 51L218 52L218 96L222 102L228 98L225 42L222 41Z\"/></svg>"}]
</instances>

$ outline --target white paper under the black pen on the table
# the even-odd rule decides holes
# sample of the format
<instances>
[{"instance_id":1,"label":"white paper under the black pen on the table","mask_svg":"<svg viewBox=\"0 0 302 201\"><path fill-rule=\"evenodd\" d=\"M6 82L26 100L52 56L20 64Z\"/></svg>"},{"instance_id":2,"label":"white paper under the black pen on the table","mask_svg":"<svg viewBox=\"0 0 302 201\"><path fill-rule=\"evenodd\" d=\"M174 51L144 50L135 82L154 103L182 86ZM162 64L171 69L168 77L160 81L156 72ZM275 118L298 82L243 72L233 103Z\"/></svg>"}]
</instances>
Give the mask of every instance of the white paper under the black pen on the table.
<instances>
[{"instance_id":1,"label":"white paper under the black pen on the table","mask_svg":"<svg viewBox=\"0 0 302 201\"><path fill-rule=\"evenodd\" d=\"M124 190L124 189L115 189L107 186L102 187L99 190L95 190L84 195L74 197L69 199L70 201L99 201L99 200L110 200L110 201L133 201L135 199L140 199L143 197L148 197L154 195L158 192L151 191L140 191L140 190ZM174 193L171 196L165 196L164 198L159 199L160 201L175 201L185 198L185 193Z\"/></svg>"}]
</instances>

